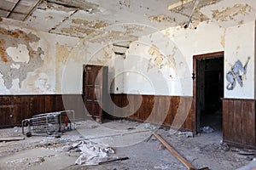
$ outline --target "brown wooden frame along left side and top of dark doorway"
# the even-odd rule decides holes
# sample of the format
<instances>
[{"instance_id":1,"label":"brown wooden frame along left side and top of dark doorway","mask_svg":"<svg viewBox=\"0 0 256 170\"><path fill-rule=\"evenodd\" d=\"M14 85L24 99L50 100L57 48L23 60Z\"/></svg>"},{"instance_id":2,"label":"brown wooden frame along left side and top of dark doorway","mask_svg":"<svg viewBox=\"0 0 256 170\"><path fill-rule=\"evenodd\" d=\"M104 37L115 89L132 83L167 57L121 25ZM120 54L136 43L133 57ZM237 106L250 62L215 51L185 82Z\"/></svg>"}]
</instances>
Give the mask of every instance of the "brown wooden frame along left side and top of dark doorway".
<instances>
[{"instance_id":1,"label":"brown wooden frame along left side and top of dark doorway","mask_svg":"<svg viewBox=\"0 0 256 170\"><path fill-rule=\"evenodd\" d=\"M193 55L193 73L192 73L192 78L193 78L193 100L192 100L192 128L194 133L198 133L198 129L197 129L197 84L196 84L196 77L197 77L197 65L196 65L196 60L197 59L214 59L216 57L223 57L224 59L224 51L220 51L220 52L213 52L213 53L208 53L208 54L197 54L197 55Z\"/></svg>"}]
</instances>

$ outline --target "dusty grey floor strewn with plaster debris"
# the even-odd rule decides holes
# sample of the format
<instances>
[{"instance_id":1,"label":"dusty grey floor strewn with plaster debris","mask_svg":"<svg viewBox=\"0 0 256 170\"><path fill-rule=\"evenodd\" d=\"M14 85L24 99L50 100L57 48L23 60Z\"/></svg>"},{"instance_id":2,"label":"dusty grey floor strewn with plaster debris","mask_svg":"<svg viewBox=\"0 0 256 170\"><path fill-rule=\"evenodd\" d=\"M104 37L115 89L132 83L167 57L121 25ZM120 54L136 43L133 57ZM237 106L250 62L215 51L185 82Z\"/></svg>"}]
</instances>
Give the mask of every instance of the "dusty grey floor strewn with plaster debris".
<instances>
[{"instance_id":1,"label":"dusty grey floor strewn with plaster debris","mask_svg":"<svg viewBox=\"0 0 256 170\"><path fill-rule=\"evenodd\" d=\"M45 134L32 135L30 138L25 136L20 141L1 142L0 169L187 169L151 135L153 132L160 134L197 168L236 169L252 162L254 158L253 154L242 154L254 153L254 150L241 150L222 144L222 133L219 131L202 132L191 137L190 133L170 133L168 128L149 123L119 120L100 124L86 121L77 122L76 130L67 131L60 138ZM0 135L1 138L23 136L20 127L0 129ZM75 165L82 154L79 148L82 143L112 148L114 153L108 153L110 158L129 159L94 166Z\"/></svg>"}]
</instances>

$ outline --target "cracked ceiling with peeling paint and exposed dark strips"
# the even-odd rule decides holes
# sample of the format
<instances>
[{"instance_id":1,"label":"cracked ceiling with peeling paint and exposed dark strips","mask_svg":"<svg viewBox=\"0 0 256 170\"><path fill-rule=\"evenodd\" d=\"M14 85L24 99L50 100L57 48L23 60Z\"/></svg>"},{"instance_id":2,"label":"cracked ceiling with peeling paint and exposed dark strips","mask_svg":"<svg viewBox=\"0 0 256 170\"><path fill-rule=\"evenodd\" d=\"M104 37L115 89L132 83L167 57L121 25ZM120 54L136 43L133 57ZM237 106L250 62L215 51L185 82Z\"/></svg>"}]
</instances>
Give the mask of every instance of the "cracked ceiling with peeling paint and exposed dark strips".
<instances>
[{"instance_id":1,"label":"cracked ceiling with peeling paint and exposed dark strips","mask_svg":"<svg viewBox=\"0 0 256 170\"><path fill-rule=\"evenodd\" d=\"M195 29L201 21L230 27L255 20L254 0L2 0L2 20L72 37L123 34L131 40L173 26Z\"/></svg>"}]
</instances>

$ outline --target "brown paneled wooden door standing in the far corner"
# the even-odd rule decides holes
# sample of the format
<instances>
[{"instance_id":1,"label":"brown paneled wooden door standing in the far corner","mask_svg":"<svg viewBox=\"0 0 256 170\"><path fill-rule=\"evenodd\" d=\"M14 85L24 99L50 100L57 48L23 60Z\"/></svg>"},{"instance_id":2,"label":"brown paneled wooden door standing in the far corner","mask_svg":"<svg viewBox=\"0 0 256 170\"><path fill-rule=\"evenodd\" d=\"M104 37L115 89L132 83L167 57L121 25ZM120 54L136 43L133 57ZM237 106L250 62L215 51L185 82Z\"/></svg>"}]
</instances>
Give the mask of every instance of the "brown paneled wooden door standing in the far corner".
<instances>
[{"instance_id":1,"label":"brown paneled wooden door standing in the far corner","mask_svg":"<svg viewBox=\"0 0 256 170\"><path fill-rule=\"evenodd\" d=\"M84 105L96 122L102 122L105 96L108 93L108 67L84 65Z\"/></svg>"}]
</instances>

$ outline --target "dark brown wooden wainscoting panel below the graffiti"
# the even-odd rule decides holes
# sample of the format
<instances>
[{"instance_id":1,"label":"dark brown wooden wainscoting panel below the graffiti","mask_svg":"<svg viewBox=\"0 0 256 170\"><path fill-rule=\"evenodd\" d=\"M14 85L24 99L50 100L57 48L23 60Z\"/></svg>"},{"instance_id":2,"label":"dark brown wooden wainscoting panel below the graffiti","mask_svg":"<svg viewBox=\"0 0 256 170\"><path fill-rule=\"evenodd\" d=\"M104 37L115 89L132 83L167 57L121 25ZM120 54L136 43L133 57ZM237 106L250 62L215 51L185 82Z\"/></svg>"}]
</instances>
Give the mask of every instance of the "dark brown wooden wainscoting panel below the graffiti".
<instances>
[{"instance_id":1,"label":"dark brown wooden wainscoting panel below the graffiti","mask_svg":"<svg viewBox=\"0 0 256 170\"><path fill-rule=\"evenodd\" d=\"M255 100L223 99L224 142L256 149L255 134Z\"/></svg>"}]
</instances>

